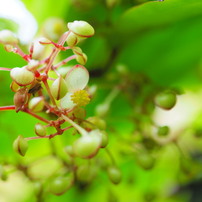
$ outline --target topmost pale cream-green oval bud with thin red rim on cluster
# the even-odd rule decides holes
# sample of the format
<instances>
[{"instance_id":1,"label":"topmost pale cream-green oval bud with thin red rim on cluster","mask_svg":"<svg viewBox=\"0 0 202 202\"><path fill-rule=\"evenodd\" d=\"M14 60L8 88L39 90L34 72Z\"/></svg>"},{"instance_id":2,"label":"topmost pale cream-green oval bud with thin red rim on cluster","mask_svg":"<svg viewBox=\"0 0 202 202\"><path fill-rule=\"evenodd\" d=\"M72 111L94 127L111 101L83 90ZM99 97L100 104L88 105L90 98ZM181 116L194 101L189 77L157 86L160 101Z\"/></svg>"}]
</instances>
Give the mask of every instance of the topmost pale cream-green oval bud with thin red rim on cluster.
<instances>
[{"instance_id":1,"label":"topmost pale cream-green oval bud with thin red rim on cluster","mask_svg":"<svg viewBox=\"0 0 202 202\"><path fill-rule=\"evenodd\" d=\"M74 21L67 24L70 31L80 37L91 37L94 35L95 31L93 27L85 21Z\"/></svg>"}]
</instances>

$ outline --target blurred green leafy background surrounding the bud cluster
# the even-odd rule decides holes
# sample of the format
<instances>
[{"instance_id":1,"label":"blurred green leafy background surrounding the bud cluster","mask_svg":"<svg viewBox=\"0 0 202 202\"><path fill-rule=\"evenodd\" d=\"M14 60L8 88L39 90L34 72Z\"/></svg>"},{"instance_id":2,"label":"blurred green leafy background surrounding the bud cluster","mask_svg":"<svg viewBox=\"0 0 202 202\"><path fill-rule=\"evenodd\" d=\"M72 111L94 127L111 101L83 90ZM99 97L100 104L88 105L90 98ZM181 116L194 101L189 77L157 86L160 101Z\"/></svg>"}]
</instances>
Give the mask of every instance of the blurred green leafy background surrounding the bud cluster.
<instances>
[{"instance_id":1,"label":"blurred green leafy background surrounding the bud cluster","mask_svg":"<svg viewBox=\"0 0 202 202\"><path fill-rule=\"evenodd\" d=\"M44 27L52 18L60 18L65 23L85 20L95 28L95 36L81 44L88 56L86 68L91 75L90 86L98 87L95 98L87 107L87 117L96 114L98 104L103 103L115 87L122 87L104 116L109 134L107 148L121 169L122 182L113 185L100 166L96 177L86 186L77 184L62 196L45 192L40 200L201 202L201 0L16 0L19 2L37 22L37 32L32 33L35 36L48 35L49 31L44 31ZM10 3L8 13L11 7L16 16L23 12ZM1 4L4 2L0 1L0 7ZM30 29L19 25L20 20L16 19L0 12L0 29L11 29L16 33L19 29ZM25 50L28 43L29 40L22 43ZM64 57L62 54L61 58ZM1 67L23 65L25 62L19 56L0 46ZM0 104L12 105L9 73L1 71L0 80ZM172 112L153 106L154 95L164 89L183 92L178 93L176 110ZM170 136L177 134L177 140L160 144L159 139L151 135L154 133L151 120L168 125L172 132ZM64 167L51 155L50 142L57 155L64 156L63 147L72 141L68 135L50 141L30 141L25 157L14 153L13 140L19 134L34 136L35 123L34 118L21 112L0 113L0 163L7 171L11 170L8 180L0 181L1 202L37 201L37 182L46 184L53 172ZM142 138L142 131L149 135ZM134 149L136 146L140 146L138 154ZM138 155L144 153L142 148L146 157L141 158L146 160L138 160ZM92 160L95 165L109 161L104 150L99 152L97 160ZM145 166L148 161L151 169ZM12 171L13 165L19 166L19 171ZM22 172L22 167L33 179Z\"/></svg>"}]
</instances>

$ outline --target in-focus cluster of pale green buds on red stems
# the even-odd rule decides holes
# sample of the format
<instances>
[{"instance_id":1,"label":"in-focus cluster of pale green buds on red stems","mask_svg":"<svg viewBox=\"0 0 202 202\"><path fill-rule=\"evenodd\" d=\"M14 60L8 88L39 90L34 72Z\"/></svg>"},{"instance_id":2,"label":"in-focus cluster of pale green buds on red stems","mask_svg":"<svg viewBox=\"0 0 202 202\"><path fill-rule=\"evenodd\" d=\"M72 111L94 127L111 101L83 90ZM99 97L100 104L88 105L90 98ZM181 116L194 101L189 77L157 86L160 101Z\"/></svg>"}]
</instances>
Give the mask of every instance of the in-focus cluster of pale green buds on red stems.
<instances>
[{"instance_id":1,"label":"in-focus cluster of pale green buds on red stems","mask_svg":"<svg viewBox=\"0 0 202 202\"><path fill-rule=\"evenodd\" d=\"M40 121L34 128L35 137L25 138L19 135L14 141L14 150L21 156L26 154L29 140L51 139L62 135L70 128L75 128L80 136L65 147L66 154L71 158L93 158L101 148L105 148L108 144L105 121L99 117L89 117L85 120L84 107L89 104L92 95L87 88L89 72L83 66L87 62L87 56L77 44L93 36L94 29L85 21L74 21L68 23L67 27L69 30L62 34L57 43L41 38L38 44L33 43L29 54L21 50L19 40L11 31L0 31L0 42L5 49L19 54L27 62L27 65L23 67L0 68L3 71L10 71L12 79L10 88L15 93L14 105L0 107L0 110L13 109L16 112L25 112ZM46 52L43 53L45 49L40 49L39 59L37 53L39 45L51 47L50 54L46 56ZM67 50L72 50L73 55L56 63L57 55ZM77 64L68 66L67 63L71 60L76 60ZM52 120L53 116L46 119L41 112L46 114L46 117L47 114L54 114L55 119ZM69 126L64 127L63 124L66 126L67 123ZM54 127L56 132L48 134L48 127ZM79 167L77 173L83 173L85 170ZM108 174L113 183L120 182L121 173L116 166L110 166ZM81 175L78 174L78 176ZM89 176L91 179L94 175L89 174ZM50 189L54 194L60 195L72 183L72 178L64 180L59 177L53 180Z\"/></svg>"}]
</instances>

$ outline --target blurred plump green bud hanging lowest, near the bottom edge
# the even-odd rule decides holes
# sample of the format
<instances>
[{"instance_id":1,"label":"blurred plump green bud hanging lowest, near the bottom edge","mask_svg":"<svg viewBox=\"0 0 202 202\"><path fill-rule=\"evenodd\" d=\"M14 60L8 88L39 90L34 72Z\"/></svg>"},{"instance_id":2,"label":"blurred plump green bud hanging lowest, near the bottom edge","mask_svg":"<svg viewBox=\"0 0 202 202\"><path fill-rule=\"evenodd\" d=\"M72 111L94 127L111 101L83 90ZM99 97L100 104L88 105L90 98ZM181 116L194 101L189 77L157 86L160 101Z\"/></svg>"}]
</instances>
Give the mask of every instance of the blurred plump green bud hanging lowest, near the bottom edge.
<instances>
[{"instance_id":1,"label":"blurred plump green bud hanging lowest, near the bottom edge","mask_svg":"<svg viewBox=\"0 0 202 202\"><path fill-rule=\"evenodd\" d=\"M50 182L50 192L55 195L62 195L71 188L73 183L72 176L57 177Z\"/></svg>"}]
</instances>

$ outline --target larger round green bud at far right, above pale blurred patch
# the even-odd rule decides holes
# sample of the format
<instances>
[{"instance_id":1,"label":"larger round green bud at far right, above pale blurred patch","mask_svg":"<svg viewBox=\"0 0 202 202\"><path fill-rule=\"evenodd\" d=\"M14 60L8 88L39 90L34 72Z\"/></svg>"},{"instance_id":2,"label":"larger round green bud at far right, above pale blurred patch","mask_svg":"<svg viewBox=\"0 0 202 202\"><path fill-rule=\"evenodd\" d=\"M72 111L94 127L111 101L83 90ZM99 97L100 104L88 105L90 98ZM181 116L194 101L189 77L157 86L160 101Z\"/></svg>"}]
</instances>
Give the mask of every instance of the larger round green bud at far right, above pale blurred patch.
<instances>
[{"instance_id":1,"label":"larger round green bud at far right, above pale blurred patch","mask_svg":"<svg viewBox=\"0 0 202 202\"><path fill-rule=\"evenodd\" d=\"M177 98L173 92L163 92L156 95L154 101L158 107L169 110L175 106Z\"/></svg>"}]
</instances>

